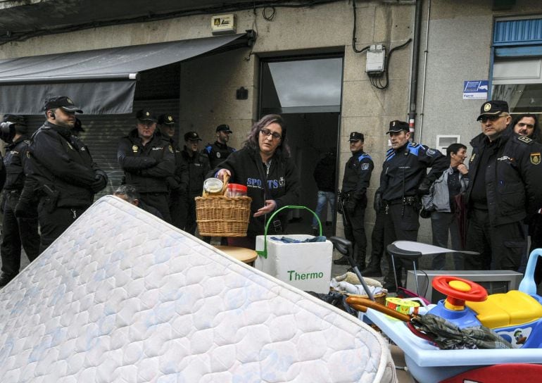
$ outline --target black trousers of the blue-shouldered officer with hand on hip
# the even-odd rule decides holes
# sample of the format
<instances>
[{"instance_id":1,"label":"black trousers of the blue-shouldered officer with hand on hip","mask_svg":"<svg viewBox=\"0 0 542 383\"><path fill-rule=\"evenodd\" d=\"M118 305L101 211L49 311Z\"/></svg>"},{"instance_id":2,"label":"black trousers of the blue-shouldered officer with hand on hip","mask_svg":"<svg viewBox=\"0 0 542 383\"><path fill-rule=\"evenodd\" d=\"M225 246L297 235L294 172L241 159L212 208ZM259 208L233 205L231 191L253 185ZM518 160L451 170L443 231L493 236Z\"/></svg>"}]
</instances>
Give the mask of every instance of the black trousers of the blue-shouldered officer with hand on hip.
<instances>
[{"instance_id":1,"label":"black trousers of the blue-shouldered officer with hand on hip","mask_svg":"<svg viewBox=\"0 0 542 383\"><path fill-rule=\"evenodd\" d=\"M420 211L415 205L403 205L403 203L393 203L388 206L388 211L384 215L384 246L387 247L394 241L417 241ZM386 251L386 258L389 264L388 274L385 282L395 283L393 277L393 263L391 255ZM397 283L402 286L401 274L403 267L405 270L412 270L412 260L404 258L395 258L395 270ZM417 267L417 265L416 265Z\"/></svg>"}]
</instances>

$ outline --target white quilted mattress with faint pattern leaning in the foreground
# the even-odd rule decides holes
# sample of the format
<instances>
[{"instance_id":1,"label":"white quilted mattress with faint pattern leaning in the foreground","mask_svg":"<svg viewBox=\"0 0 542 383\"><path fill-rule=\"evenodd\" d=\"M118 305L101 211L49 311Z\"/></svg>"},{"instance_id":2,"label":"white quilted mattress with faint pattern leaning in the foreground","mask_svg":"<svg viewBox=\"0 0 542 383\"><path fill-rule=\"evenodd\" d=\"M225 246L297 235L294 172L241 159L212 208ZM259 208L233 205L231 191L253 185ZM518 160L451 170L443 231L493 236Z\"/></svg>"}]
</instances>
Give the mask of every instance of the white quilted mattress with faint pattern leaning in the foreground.
<instances>
[{"instance_id":1,"label":"white quilted mattress with faint pattern leaning in the foreground","mask_svg":"<svg viewBox=\"0 0 542 383\"><path fill-rule=\"evenodd\" d=\"M94 203L0 290L1 382L394 382L351 315L130 203Z\"/></svg>"}]
</instances>

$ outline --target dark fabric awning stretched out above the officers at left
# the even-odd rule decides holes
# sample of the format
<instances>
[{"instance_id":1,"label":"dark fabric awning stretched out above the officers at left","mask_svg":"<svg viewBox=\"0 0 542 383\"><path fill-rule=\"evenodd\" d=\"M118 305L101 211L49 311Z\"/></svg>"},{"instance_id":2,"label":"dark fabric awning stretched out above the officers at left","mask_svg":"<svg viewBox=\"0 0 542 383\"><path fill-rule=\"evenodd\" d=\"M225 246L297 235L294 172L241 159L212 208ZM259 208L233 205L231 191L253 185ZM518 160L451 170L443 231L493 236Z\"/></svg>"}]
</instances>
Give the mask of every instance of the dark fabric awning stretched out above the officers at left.
<instances>
[{"instance_id":1,"label":"dark fabric awning stretched out above the officers at left","mask_svg":"<svg viewBox=\"0 0 542 383\"><path fill-rule=\"evenodd\" d=\"M239 46L248 34L0 60L0 111L39 114L45 99L65 95L84 113L131 113L139 72Z\"/></svg>"}]
</instances>

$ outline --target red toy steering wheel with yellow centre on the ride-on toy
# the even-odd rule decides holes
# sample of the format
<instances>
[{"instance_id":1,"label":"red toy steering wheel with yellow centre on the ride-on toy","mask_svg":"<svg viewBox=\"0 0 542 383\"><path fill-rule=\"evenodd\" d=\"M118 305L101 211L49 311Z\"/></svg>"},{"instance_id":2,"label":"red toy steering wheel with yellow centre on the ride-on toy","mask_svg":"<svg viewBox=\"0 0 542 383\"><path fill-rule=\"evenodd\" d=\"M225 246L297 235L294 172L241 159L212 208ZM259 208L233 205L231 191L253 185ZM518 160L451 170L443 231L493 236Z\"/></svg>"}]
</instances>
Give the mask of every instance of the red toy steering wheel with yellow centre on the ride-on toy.
<instances>
[{"instance_id":1,"label":"red toy steering wheel with yellow centre on the ride-on toy","mask_svg":"<svg viewBox=\"0 0 542 383\"><path fill-rule=\"evenodd\" d=\"M450 310L462 310L465 308L465 301L481 302L487 299L484 287L452 275L439 275L432 284L436 291L446 294L444 306Z\"/></svg>"}]
</instances>

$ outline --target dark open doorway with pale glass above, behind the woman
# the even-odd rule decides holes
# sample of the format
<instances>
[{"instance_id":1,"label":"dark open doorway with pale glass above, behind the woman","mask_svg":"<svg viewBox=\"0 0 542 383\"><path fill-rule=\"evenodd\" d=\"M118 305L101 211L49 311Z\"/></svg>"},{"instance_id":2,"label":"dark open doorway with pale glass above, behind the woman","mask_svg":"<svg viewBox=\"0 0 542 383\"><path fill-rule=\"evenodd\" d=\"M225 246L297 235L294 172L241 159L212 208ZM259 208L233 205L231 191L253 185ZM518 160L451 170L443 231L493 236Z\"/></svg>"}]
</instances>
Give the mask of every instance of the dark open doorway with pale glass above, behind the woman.
<instances>
[{"instance_id":1,"label":"dark open doorway with pale glass above, behind the woman","mask_svg":"<svg viewBox=\"0 0 542 383\"><path fill-rule=\"evenodd\" d=\"M316 165L338 149L342 72L341 55L275 58L261 63L260 116L278 113L286 121L288 143L301 179L300 204L313 211L318 191L313 177ZM335 211L327 206L322 209L324 235L335 234ZM310 212L296 210L290 215L289 233L313 234Z\"/></svg>"}]
</instances>

